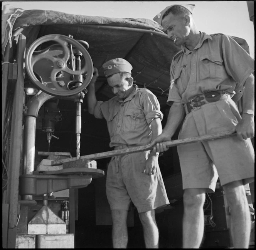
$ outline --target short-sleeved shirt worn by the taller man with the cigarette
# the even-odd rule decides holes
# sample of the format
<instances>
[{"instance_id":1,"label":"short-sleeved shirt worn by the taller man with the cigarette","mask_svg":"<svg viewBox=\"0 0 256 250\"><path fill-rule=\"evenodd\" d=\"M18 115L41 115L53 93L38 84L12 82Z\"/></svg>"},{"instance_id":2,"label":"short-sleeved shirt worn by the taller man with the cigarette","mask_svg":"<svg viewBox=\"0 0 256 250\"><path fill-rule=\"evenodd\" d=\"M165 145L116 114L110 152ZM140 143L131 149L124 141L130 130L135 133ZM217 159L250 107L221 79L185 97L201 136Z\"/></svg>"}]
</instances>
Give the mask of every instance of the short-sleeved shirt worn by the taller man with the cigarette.
<instances>
[{"instance_id":1,"label":"short-sleeved shirt worn by the taller man with the cigarette","mask_svg":"<svg viewBox=\"0 0 256 250\"><path fill-rule=\"evenodd\" d=\"M200 32L193 51L181 47L170 67L171 85L167 104L185 104L198 94L225 91L235 94L254 71L254 60L231 37Z\"/></svg>"}]
</instances>

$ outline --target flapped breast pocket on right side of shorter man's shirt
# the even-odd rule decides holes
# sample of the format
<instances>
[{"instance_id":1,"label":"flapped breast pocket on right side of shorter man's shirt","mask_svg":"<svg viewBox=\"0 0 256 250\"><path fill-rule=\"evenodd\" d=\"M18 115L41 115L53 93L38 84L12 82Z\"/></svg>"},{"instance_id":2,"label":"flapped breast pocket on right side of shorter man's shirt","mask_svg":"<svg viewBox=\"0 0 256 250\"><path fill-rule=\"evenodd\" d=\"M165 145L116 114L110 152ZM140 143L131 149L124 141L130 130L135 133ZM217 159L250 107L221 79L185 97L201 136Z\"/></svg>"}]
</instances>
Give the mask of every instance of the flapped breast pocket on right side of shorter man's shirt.
<instances>
[{"instance_id":1,"label":"flapped breast pocket on right side of shorter man's shirt","mask_svg":"<svg viewBox=\"0 0 256 250\"><path fill-rule=\"evenodd\" d=\"M127 109L124 115L123 131L127 133L140 132L139 127L145 115L140 109Z\"/></svg>"}]
</instances>

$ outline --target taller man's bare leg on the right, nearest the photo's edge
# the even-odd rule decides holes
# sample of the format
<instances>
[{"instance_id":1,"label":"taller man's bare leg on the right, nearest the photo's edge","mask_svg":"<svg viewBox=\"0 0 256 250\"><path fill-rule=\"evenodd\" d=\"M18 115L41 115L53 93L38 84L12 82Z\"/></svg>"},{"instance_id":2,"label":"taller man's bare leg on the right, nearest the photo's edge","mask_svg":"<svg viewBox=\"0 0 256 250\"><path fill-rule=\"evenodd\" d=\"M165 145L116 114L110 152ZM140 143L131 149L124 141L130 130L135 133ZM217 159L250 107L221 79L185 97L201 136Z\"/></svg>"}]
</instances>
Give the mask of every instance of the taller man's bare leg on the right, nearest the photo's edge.
<instances>
[{"instance_id":1,"label":"taller man's bare leg on the right, nearest the photo's edge","mask_svg":"<svg viewBox=\"0 0 256 250\"><path fill-rule=\"evenodd\" d=\"M251 219L242 181L223 185L227 203L231 208L230 233L234 248L249 248Z\"/></svg>"}]
</instances>

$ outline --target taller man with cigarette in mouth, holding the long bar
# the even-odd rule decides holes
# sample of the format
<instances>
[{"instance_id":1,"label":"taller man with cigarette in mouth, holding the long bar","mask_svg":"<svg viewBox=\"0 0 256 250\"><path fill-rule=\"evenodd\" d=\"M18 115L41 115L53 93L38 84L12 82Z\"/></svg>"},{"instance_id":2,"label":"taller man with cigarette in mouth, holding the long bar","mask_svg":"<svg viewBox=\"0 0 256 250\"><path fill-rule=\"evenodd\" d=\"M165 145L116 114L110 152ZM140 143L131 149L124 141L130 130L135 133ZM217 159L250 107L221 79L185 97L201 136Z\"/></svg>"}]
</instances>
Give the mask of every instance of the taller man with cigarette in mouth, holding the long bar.
<instances>
[{"instance_id":1,"label":"taller man with cigarette in mouth, holding the long bar","mask_svg":"<svg viewBox=\"0 0 256 250\"><path fill-rule=\"evenodd\" d=\"M170 67L168 121L152 145L157 152L166 151L163 142L171 140L182 121L179 139L236 131L237 136L177 147L184 189L183 247L199 248L205 192L215 192L219 179L231 209L234 248L248 248L251 223L244 185L254 180L254 60L230 36L199 31L194 8L171 5L153 18L181 50ZM231 99L237 87L244 89L241 114Z\"/></svg>"}]
</instances>

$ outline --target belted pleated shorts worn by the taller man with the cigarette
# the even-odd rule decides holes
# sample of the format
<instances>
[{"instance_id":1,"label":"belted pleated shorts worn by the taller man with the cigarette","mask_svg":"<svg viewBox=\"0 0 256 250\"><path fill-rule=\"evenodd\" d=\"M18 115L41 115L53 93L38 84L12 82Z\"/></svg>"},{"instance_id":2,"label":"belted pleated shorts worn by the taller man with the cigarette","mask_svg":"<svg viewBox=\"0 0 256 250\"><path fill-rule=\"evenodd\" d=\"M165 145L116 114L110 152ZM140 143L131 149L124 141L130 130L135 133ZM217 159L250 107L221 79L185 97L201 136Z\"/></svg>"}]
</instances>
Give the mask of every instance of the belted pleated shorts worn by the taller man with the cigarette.
<instances>
[{"instance_id":1,"label":"belted pleated shorts worn by the taller man with the cigarette","mask_svg":"<svg viewBox=\"0 0 256 250\"><path fill-rule=\"evenodd\" d=\"M226 99L207 103L187 114L179 139L234 131L241 116L236 104ZM254 180L254 149L251 139L236 136L177 147L183 189L205 188L214 192L219 177L221 185L236 180L247 184Z\"/></svg>"}]
</instances>

